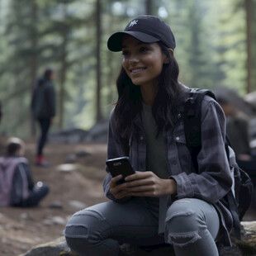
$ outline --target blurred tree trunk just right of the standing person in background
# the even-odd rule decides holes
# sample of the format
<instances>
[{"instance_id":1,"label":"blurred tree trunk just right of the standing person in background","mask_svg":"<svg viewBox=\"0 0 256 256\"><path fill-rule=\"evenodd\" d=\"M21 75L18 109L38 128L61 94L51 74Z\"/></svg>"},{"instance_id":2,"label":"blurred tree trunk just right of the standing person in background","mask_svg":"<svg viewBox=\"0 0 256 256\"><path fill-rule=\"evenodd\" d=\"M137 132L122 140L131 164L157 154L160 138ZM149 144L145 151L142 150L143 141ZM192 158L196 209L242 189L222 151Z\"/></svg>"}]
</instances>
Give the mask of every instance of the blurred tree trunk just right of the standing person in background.
<instances>
[{"instance_id":1,"label":"blurred tree trunk just right of the standing person in background","mask_svg":"<svg viewBox=\"0 0 256 256\"><path fill-rule=\"evenodd\" d=\"M67 16L67 8L63 7L63 16ZM64 101L65 101L65 82L67 71L67 43L68 43L68 29L63 24L62 29L62 45L60 56L60 70L59 70L59 129L64 128Z\"/></svg>"}]
</instances>

